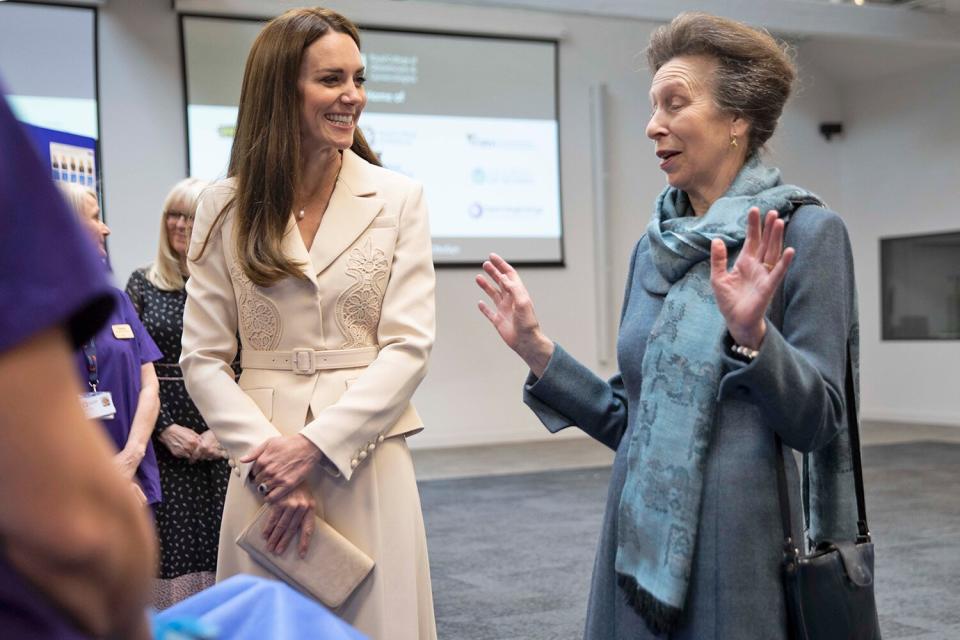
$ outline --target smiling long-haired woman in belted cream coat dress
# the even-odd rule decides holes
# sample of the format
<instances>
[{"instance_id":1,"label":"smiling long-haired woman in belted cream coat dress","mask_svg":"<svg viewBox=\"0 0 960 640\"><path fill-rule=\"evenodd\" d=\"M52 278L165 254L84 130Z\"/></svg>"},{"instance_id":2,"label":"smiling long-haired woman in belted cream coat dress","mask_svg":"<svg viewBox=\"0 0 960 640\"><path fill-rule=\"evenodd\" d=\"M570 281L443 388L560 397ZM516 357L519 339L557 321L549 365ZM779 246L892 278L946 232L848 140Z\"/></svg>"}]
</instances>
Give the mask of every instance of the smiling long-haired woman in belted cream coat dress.
<instances>
[{"instance_id":1,"label":"smiling long-haired woman in belted cream coat dress","mask_svg":"<svg viewBox=\"0 0 960 640\"><path fill-rule=\"evenodd\" d=\"M332 11L289 11L257 38L230 178L197 211L181 365L233 467L218 579L269 575L236 544L264 501L278 553L303 555L316 513L376 563L336 613L373 640L426 640L405 438L434 336L430 234L421 187L375 166L356 128L362 74L356 27Z\"/></svg>"}]
</instances>

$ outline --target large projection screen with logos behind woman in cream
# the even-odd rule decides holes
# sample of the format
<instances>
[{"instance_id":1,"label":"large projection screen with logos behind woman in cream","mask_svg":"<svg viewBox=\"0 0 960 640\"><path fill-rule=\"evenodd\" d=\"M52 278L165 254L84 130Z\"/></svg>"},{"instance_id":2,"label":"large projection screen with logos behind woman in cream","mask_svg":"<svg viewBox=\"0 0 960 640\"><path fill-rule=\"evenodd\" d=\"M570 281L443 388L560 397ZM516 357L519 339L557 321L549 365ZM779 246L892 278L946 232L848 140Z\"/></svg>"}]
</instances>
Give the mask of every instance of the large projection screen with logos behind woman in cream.
<instances>
[{"instance_id":1,"label":"large projection screen with logos behind woman in cream","mask_svg":"<svg viewBox=\"0 0 960 640\"><path fill-rule=\"evenodd\" d=\"M226 174L259 21L181 16L190 174ZM437 264L562 264L557 43L363 29L360 128L424 184ZM321 227L322 231L322 227Z\"/></svg>"}]
</instances>

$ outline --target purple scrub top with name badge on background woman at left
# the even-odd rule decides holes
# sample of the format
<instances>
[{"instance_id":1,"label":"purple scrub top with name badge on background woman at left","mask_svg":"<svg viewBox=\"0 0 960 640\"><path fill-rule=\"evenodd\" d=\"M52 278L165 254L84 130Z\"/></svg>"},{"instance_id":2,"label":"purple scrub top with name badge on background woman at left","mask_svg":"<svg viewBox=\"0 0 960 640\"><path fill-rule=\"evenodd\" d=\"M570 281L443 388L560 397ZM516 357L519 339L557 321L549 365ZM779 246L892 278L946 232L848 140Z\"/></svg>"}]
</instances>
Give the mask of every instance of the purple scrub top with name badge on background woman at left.
<instances>
[{"instance_id":1,"label":"purple scrub top with name badge on background woman at left","mask_svg":"<svg viewBox=\"0 0 960 640\"><path fill-rule=\"evenodd\" d=\"M113 405L117 414L112 420L101 420L100 423L110 436L117 451L123 449L130 435L133 416L137 411L137 401L140 399L140 366L148 362L159 360L163 354L153 342L150 334L143 328L140 317L137 315L130 298L119 289L112 289L116 306L106 323L93 338L97 350L97 376L100 382L98 391L109 391L113 396ZM114 334L116 327L126 325L133 331L129 339L117 338ZM121 335L123 335L121 330ZM82 350L75 355L77 371L87 384L87 359ZM157 469L157 456L153 451L153 442L147 440L147 449L140 466L137 467L137 482L147 496L148 504L160 502L160 471Z\"/></svg>"}]
</instances>

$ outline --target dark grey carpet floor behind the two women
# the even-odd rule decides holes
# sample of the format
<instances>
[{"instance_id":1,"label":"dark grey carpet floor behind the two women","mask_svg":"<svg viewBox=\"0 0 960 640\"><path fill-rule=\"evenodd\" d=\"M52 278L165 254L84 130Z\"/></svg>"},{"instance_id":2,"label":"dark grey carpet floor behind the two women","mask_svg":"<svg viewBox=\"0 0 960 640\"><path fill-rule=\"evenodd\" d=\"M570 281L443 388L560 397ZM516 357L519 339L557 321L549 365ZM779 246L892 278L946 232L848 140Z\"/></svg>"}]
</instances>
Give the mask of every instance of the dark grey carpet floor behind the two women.
<instances>
[{"instance_id":1,"label":"dark grey carpet floor behind the two women","mask_svg":"<svg viewBox=\"0 0 960 640\"><path fill-rule=\"evenodd\" d=\"M863 459L885 640L960 639L960 445L872 446ZM580 638L608 478L420 483L440 639Z\"/></svg>"}]
</instances>

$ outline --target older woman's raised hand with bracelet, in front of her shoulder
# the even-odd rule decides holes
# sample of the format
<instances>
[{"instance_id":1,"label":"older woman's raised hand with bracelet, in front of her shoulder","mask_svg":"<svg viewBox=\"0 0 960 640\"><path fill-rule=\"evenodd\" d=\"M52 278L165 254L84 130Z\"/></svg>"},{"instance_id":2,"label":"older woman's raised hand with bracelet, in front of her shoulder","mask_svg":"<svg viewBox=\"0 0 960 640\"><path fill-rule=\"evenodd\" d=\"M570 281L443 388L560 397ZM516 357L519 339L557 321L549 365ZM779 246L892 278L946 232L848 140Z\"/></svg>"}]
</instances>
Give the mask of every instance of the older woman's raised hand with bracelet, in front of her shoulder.
<instances>
[{"instance_id":1,"label":"older woman's raised hand with bracelet, in front of her shoulder","mask_svg":"<svg viewBox=\"0 0 960 640\"><path fill-rule=\"evenodd\" d=\"M737 344L759 349L767 332L764 314L793 260L794 250L783 250L784 222L768 211L760 228L760 210L747 213L747 235L740 255L727 271L727 248L722 240L710 245L710 284L730 336Z\"/></svg>"}]
</instances>

